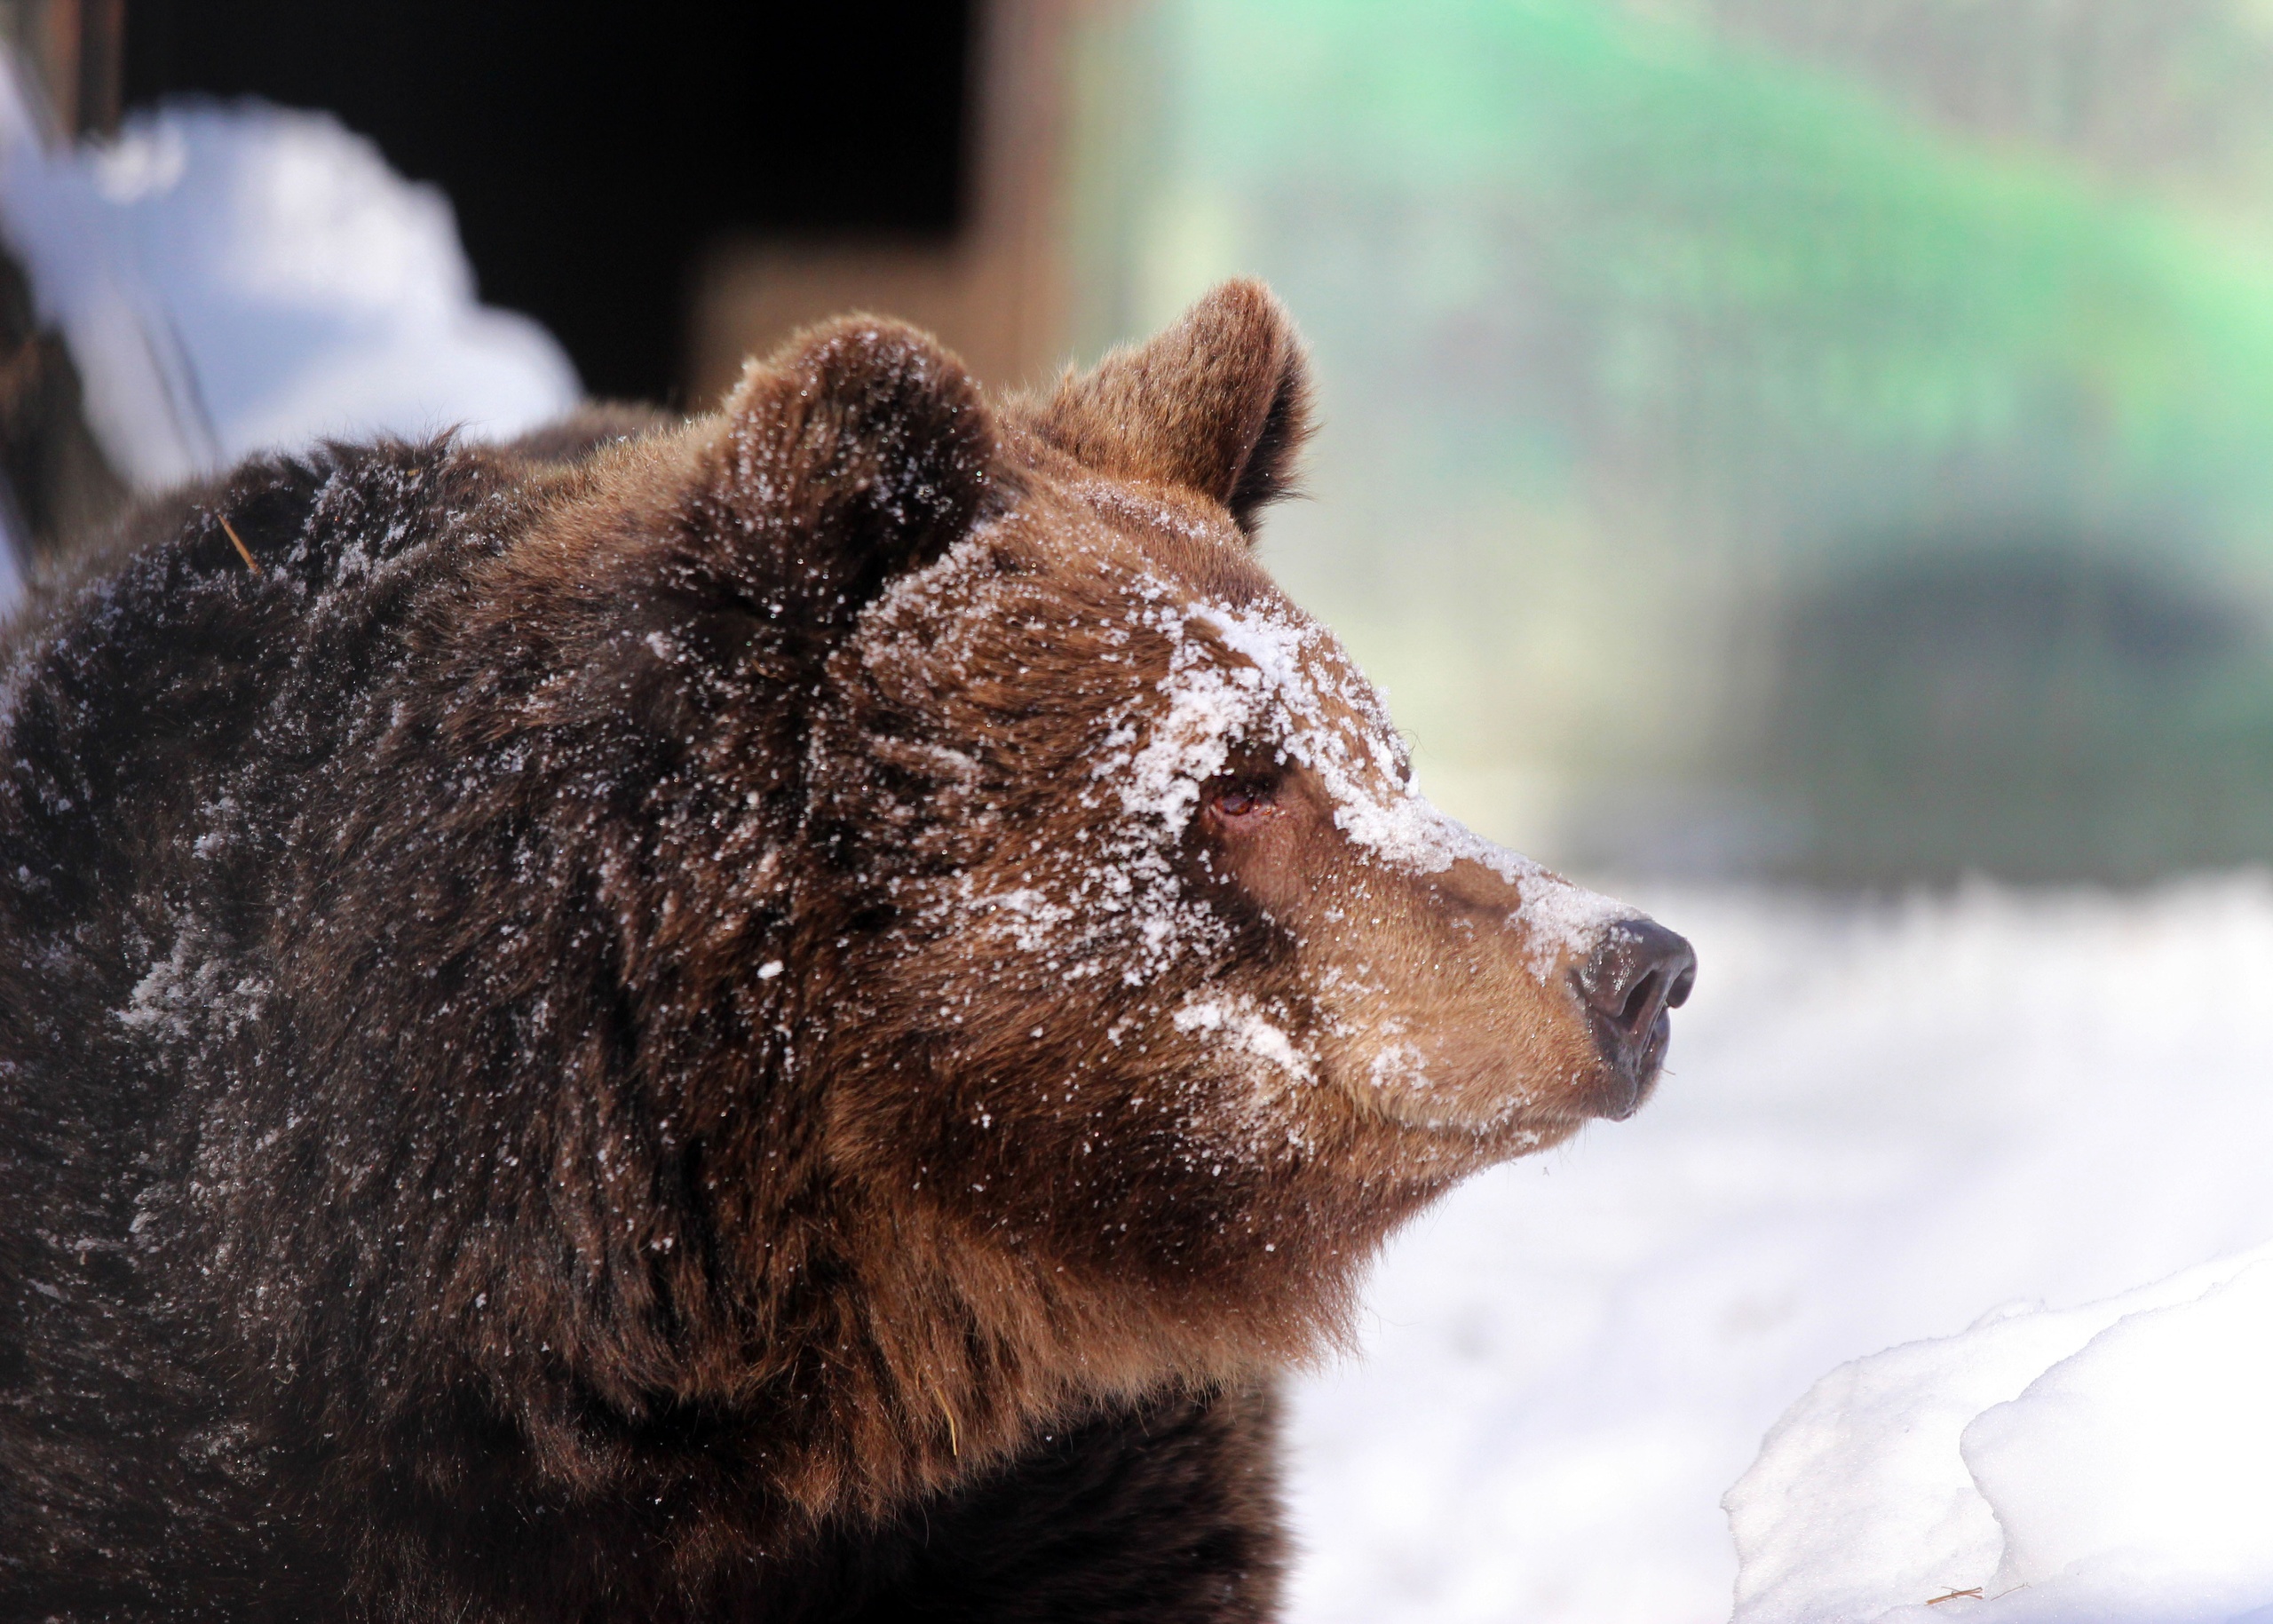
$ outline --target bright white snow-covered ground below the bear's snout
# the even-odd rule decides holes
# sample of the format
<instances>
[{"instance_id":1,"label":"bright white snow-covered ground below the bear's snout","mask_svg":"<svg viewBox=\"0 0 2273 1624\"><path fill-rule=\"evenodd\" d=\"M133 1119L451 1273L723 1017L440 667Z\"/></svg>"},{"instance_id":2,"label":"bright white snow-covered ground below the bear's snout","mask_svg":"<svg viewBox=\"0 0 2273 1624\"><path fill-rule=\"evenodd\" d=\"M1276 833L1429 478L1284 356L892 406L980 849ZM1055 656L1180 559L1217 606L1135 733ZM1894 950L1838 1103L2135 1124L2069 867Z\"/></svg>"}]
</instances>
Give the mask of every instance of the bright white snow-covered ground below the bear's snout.
<instances>
[{"instance_id":1,"label":"bright white snow-covered ground below the bear's snout","mask_svg":"<svg viewBox=\"0 0 2273 1624\"><path fill-rule=\"evenodd\" d=\"M1848 1522L1755 1526L1748 1585L1775 1569L1800 1588L1782 1592L1789 1608L1755 1597L1748 1617L2214 1619L2273 1601L2273 1585L2184 1601L2171 1563L2207 1574L2216 1553L2173 1547L2116 1481L2184 1467L2266 1494L2273 1437L2259 1451L2248 1426L2273 1422L2248 1406L2196 1403L2196 1440L2162 1456L2143 1440L2184 1424L2148 1412L2150 1394L2232 1392L2237 1367L2273 1367L2273 1308L2257 1312L2273 1269L2223 1294L2234 1267L2093 1315L2016 1312L2273 1240L2273 883L1968 889L1871 910L1743 892L1632 901L1700 955L1673 1076L1637 1119L1468 1185L1391 1249L1362 1356L1296 1397L1293 1617L1727 1619L1721 1497L1771 1426L1841 1362L1996 1310L1971 1340L1839 1374L1793 1417L1752 1503L1796 1483L1796 1510L1843 1492ZM2091 1340L2189 1296L2193 1319L2137 1315ZM2032 1353L2014 1351L2023 1340ZM1841 1408L1857 1381L1903 1399ZM1964 1433L1959 1463L1959 1428L2021 1387L2025 1403ZM2200 1437L2205 1412L2239 1428L2230 1447ZM1918 1469L1941 1474L1948 1526L1900 1474L1868 1476L1928 1422ZM1950 1499L1978 1492L2007 1517L1987 1535L1987 1513ZM1834 1608L1809 1585L1839 1579L1859 1526L1889 1549ZM2028 1538L2037 1556L2000 1547ZM2164 1567L2118 1549L2137 1540L2162 1540ZM2053 1588L1993 1599L1998 1574L2055 1556L2116 1572L2116 1588L2075 1592L2068 1613ZM1984 1581L1987 1601L1923 1608Z\"/></svg>"}]
</instances>

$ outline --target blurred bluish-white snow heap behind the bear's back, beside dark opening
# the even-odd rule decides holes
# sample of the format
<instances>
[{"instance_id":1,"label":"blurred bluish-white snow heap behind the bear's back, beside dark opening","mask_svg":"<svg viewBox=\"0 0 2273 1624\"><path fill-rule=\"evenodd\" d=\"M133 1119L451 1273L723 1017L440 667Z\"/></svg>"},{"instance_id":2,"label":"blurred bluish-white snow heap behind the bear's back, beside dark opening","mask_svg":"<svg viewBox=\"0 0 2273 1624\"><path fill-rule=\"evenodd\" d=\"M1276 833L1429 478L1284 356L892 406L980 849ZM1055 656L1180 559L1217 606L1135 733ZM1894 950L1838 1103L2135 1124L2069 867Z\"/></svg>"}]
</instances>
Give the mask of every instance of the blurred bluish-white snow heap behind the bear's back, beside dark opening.
<instances>
[{"instance_id":1,"label":"blurred bluish-white snow heap behind the bear's back, beside dark opening","mask_svg":"<svg viewBox=\"0 0 2273 1624\"><path fill-rule=\"evenodd\" d=\"M0 73L0 237L141 489L320 437L505 439L575 368L475 300L448 198L327 114L182 102L50 148Z\"/></svg>"}]
</instances>

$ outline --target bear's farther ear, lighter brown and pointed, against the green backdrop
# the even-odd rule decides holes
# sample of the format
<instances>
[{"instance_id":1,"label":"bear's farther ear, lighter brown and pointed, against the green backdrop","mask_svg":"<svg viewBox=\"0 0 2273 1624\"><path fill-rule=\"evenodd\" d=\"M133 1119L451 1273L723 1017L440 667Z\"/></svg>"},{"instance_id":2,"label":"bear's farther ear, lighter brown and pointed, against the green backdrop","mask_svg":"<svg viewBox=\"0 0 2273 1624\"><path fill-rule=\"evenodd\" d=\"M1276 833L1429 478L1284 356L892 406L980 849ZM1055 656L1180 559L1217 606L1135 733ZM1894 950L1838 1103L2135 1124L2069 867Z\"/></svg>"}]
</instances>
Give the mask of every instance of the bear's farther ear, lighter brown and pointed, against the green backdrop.
<instances>
[{"instance_id":1,"label":"bear's farther ear, lighter brown and pointed, against the green backdrop","mask_svg":"<svg viewBox=\"0 0 2273 1624\"><path fill-rule=\"evenodd\" d=\"M1248 535L1293 489L1309 437L1309 362L1262 282L1225 282L1150 343L1068 375L1036 430L1102 473L1182 484Z\"/></svg>"}]
</instances>

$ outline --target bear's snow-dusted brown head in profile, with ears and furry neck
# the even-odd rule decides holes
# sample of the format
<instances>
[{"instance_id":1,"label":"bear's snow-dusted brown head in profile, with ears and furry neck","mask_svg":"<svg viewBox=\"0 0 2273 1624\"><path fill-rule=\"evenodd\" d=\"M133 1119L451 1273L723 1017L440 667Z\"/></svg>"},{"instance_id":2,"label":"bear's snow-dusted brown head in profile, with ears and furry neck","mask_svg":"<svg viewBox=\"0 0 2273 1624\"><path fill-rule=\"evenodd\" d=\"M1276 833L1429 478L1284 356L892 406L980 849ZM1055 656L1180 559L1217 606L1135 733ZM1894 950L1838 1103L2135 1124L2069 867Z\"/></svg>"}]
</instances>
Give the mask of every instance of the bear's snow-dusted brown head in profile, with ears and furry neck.
<instances>
[{"instance_id":1,"label":"bear's snow-dusted brown head in profile, with ears and furry neck","mask_svg":"<svg viewBox=\"0 0 2273 1624\"><path fill-rule=\"evenodd\" d=\"M675 1337L732 1328L673 1381L825 1344L782 1381L866 1369L943 1458L1246 1376L1430 1196L1648 1094L1687 944L1418 796L1252 550L1305 430L1255 284L1032 400L850 318L491 569L468 682L543 625L525 726L650 741L580 862L664 1124L602 1183L686 1203L621 1244Z\"/></svg>"}]
</instances>

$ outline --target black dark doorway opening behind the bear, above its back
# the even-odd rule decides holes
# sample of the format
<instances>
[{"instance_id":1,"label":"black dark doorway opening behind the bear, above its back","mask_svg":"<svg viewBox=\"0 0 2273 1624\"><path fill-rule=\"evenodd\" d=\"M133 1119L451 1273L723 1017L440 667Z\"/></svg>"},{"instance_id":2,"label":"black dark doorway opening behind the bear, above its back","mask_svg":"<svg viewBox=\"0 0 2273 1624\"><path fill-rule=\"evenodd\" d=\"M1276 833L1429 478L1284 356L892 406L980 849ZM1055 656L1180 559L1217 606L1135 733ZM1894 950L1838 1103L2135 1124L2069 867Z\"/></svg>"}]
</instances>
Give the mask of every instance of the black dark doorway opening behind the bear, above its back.
<instances>
[{"instance_id":1,"label":"black dark doorway opening behind the bear, above its back","mask_svg":"<svg viewBox=\"0 0 2273 1624\"><path fill-rule=\"evenodd\" d=\"M671 400L725 232L950 237L971 0L127 0L125 100L327 107L457 205L482 298L600 396Z\"/></svg>"}]
</instances>

